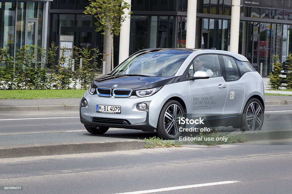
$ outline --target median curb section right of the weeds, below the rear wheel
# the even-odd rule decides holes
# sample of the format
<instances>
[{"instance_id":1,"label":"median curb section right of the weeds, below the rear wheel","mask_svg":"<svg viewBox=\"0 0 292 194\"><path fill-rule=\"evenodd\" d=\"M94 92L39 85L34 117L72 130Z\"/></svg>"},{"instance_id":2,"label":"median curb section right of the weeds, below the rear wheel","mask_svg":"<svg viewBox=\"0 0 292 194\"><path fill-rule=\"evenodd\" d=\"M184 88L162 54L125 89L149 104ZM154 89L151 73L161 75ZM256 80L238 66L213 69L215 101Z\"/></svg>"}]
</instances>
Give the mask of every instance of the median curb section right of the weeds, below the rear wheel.
<instances>
[{"instance_id":1,"label":"median curb section right of the weeds, below the rear wheel","mask_svg":"<svg viewBox=\"0 0 292 194\"><path fill-rule=\"evenodd\" d=\"M244 134L247 141L259 141L259 140L275 140L275 139L290 139L292 138L292 130L281 131L235 131L228 135Z\"/></svg>"}]
</instances>

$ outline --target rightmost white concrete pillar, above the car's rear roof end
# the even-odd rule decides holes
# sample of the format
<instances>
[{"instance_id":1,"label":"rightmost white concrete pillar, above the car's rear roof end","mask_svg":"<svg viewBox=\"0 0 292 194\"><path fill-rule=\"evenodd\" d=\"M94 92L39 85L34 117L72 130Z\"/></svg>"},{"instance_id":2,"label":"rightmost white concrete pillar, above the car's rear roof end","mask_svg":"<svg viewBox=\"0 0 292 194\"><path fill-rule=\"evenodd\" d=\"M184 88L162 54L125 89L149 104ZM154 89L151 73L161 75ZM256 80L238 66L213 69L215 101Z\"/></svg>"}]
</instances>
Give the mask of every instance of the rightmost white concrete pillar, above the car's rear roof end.
<instances>
[{"instance_id":1,"label":"rightmost white concrete pillar, above the car's rear roof end","mask_svg":"<svg viewBox=\"0 0 292 194\"><path fill-rule=\"evenodd\" d=\"M240 22L240 0L232 0L231 26L230 26L230 51L238 53Z\"/></svg>"}]
</instances>

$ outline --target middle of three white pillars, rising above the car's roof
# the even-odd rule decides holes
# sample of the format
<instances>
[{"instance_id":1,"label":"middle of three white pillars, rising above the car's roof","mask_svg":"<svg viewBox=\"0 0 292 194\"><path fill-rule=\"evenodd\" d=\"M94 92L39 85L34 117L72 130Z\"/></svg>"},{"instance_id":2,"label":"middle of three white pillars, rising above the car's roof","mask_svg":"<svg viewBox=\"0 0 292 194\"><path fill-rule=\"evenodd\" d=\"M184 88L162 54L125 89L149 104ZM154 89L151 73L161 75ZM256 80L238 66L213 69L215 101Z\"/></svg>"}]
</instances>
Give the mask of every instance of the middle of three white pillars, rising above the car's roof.
<instances>
[{"instance_id":1,"label":"middle of three white pillars, rising above the car's roof","mask_svg":"<svg viewBox=\"0 0 292 194\"><path fill-rule=\"evenodd\" d=\"M187 1L187 38L186 47L195 48L197 0Z\"/></svg>"}]
</instances>

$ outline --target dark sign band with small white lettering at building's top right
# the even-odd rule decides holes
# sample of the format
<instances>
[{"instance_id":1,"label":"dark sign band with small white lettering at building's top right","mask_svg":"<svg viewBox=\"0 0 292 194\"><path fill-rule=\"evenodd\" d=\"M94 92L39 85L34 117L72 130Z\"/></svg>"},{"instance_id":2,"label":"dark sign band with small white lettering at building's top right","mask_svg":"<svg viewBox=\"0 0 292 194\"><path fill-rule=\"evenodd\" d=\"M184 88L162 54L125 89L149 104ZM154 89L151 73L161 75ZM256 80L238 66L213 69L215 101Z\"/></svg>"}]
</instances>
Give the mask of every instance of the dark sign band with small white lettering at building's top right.
<instances>
[{"instance_id":1,"label":"dark sign band with small white lettering at building's top right","mask_svg":"<svg viewBox=\"0 0 292 194\"><path fill-rule=\"evenodd\" d=\"M241 0L241 5L248 7L292 9L292 0Z\"/></svg>"}]
</instances>

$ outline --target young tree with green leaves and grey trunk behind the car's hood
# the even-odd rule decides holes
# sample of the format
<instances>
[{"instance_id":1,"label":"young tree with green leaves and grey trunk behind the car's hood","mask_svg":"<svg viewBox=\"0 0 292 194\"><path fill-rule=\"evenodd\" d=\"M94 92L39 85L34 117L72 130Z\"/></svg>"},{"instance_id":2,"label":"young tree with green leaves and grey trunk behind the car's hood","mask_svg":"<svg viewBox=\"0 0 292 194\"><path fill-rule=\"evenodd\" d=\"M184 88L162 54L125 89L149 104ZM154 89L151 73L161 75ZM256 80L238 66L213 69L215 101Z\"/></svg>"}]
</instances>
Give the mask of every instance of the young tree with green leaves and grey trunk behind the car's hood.
<instances>
[{"instance_id":1,"label":"young tree with green leaves and grey trunk behind the car's hood","mask_svg":"<svg viewBox=\"0 0 292 194\"><path fill-rule=\"evenodd\" d=\"M85 8L83 13L93 15L97 22L95 22L96 31L103 31L104 46L103 46L103 60L106 61L105 73L111 71L114 60L114 36L119 35L121 31L122 22L128 17L124 10L130 10L131 5L124 0L89 0L89 6ZM131 12L129 11L130 15ZM111 53L111 59L110 59ZM109 65L111 61L111 66Z\"/></svg>"}]
</instances>

